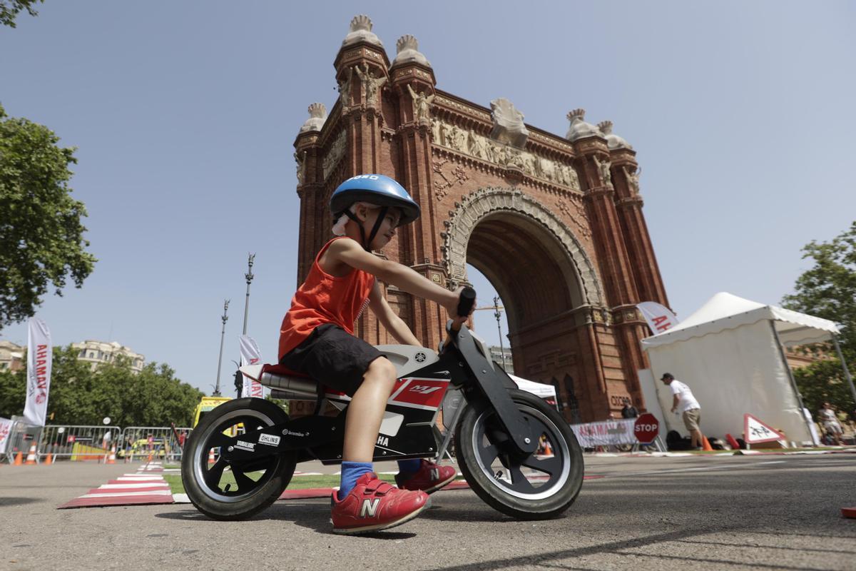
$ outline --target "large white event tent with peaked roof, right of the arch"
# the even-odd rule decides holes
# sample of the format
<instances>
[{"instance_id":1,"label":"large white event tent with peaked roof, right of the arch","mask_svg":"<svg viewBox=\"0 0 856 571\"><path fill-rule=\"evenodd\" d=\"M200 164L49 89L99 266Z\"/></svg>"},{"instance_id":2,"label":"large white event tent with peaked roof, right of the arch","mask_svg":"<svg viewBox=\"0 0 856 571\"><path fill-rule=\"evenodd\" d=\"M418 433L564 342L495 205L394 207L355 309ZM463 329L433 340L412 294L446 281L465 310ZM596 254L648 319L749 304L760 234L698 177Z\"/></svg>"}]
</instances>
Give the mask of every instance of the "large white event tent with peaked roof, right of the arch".
<instances>
[{"instance_id":1,"label":"large white event tent with peaked roof, right of the arch","mask_svg":"<svg viewBox=\"0 0 856 571\"><path fill-rule=\"evenodd\" d=\"M789 441L811 443L810 421L782 346L835 341L837 333L826 319L721 292L672 329L643 339L642 348L655 379L670 372L693 390L705 435L740 437L749 413L784 431ZM655 383L657 400L668 411L671 391ZM687 433L680 416L663 416L669 430Z\"/></svg>"}]
</instances>

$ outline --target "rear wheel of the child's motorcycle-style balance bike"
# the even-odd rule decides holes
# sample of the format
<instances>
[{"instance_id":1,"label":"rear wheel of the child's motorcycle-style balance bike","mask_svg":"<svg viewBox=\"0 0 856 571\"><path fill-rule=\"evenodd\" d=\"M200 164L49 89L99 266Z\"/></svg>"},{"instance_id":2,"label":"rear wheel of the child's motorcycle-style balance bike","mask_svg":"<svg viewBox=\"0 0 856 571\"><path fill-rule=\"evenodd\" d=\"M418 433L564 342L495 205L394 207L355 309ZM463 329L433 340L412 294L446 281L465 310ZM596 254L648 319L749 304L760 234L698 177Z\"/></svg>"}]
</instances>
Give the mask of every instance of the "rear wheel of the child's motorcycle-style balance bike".
<instances>
[{"instance_id":1,"label":"rear wheel of the child's motorcycle-style balance bike","mask_svg":"<svg viewBox=\"0 0 856 571\"><path fill-rule=\"evenodd\" d=\"M282 408L259 398L224 402L205 414L187 438L181 455L184 491L196 509L215 520L246 520L276 502L294 475L294 453L230 465L219 458L218 451L227 439L223 431L233 426L243 424L245 431L252 431L287 421L288 414ZM211 449L216 461L209 466ZM235 479L237 490L231 489L231 483L223 483L227 468ZM258 472L261 472L258 479L247 475L254 476Z\"/></svg>"}]
</instances>

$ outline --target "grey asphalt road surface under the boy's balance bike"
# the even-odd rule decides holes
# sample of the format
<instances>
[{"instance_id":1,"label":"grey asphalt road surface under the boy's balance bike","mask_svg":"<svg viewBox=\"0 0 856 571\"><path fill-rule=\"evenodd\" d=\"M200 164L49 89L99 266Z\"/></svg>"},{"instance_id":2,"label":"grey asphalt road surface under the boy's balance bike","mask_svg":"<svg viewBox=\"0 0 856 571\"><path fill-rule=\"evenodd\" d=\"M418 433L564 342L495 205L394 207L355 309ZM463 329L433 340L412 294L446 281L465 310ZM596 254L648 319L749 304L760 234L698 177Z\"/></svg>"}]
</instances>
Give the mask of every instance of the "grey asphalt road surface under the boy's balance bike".
<instances>
[{"instance_id":1,"label":"grey asphalt road surface under the boy's balance bike","mask_svg":"<svg viewBox=\"0 0 856 571\"><path fill-rule=\"evenodd\" d=\"M441 491L368 537L330 533L327 499L243 522L189 504L56 509L128 471L0 466L0 569L856 569L856 520L841 517L856 506L856 454L587 457L604 478L560 519L511 520Z\"/></svg>"}]
</instances>

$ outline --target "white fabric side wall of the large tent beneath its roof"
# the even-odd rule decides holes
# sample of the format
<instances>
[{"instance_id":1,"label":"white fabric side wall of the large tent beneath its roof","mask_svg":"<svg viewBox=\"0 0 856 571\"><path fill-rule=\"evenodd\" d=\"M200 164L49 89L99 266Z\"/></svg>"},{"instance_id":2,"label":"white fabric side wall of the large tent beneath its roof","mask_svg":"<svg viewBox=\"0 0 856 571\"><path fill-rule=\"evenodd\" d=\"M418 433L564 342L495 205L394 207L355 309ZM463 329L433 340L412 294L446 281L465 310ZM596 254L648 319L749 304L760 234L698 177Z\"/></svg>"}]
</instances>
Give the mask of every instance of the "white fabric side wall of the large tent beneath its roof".
<instances>
[{"instance_id":1,"label":"white fabric side wall of the large tent beneath its roof","mask_svg":"<svg viewBox=\"0 0 856 571\"><path fill-rule=\"evenodd\" d=\"M701 406L701 431L724 437L743 433L743 415L750 413L785 432L789 441L811 442L787 363L782 359L769 319L741 324L686 341L647 348L651 370L687 384ZM663 411L672 407L669 387L657 381ZM680 415L664 413L669 430L687 435ZM664 432L664 431L663 431Z\"/></svg>"}]
</instances>

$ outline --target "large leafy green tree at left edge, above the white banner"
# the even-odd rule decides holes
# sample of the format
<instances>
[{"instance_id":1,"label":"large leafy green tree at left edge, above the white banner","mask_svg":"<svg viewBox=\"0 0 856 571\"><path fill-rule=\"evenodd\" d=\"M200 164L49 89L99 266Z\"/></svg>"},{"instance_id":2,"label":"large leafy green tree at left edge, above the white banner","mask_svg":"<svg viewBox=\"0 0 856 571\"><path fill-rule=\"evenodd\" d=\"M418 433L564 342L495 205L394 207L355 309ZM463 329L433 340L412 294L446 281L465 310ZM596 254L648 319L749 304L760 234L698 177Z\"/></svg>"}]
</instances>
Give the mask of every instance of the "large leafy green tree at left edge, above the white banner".
<instances>
[{"instance_id":1,"label":"large leafy green tree at left edge, above the white banner","mask_svg":"<svg viewBox=\"0 0 856 571\"><path fill-rule=\"evenodd\" d=\"M0 105L0 330L33 316L53 283L78 288L97 261L86 252L86 207L71 198L74 148L42 125L6 115Z\"/></svg>"}]
</instances>

